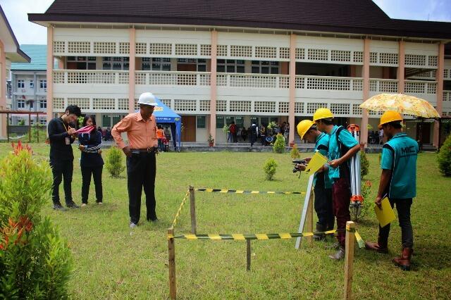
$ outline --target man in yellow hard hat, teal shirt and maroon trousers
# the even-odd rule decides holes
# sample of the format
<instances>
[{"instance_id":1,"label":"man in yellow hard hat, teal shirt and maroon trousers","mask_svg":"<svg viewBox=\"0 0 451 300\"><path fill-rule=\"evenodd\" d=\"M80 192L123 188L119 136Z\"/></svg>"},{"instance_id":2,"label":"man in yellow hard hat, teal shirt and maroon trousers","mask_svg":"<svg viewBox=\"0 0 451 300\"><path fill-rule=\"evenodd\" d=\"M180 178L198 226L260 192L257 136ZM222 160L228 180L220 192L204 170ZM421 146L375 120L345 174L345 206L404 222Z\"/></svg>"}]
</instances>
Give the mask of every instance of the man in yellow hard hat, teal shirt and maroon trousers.
<instances>
[{"instance_id":1,"label":"man in yellow hard hat, teal shirt and maroon trousers","mask_svg":"<svg viewBox=\"0 0 451 300\"><path fill-rule=\"evenodd\" d=\"M337 232L338 251L329 258L340 260L345 257L346 222L351 220L349 161L360 150L360 145L344 127L333 124L333 114L328 108L317 109L313 120L319 131L329 135L328 175L332 182L333 212L337 218L337 230L339 230Z\"/></svg>"}]
</instances>

